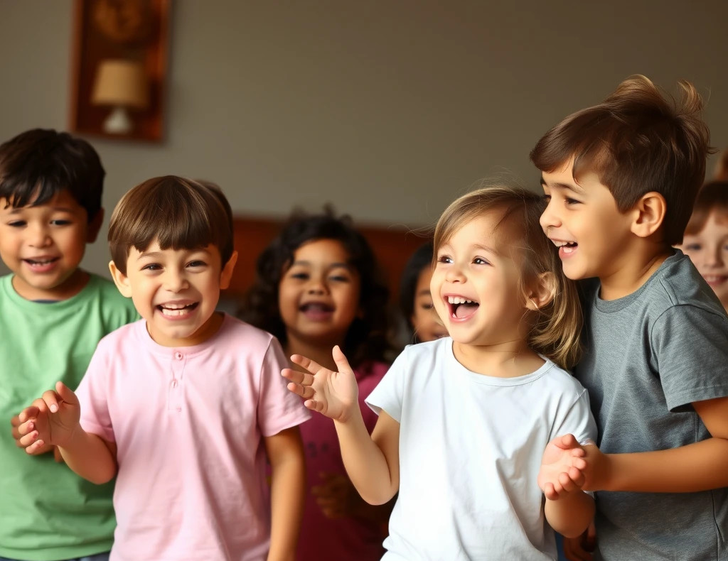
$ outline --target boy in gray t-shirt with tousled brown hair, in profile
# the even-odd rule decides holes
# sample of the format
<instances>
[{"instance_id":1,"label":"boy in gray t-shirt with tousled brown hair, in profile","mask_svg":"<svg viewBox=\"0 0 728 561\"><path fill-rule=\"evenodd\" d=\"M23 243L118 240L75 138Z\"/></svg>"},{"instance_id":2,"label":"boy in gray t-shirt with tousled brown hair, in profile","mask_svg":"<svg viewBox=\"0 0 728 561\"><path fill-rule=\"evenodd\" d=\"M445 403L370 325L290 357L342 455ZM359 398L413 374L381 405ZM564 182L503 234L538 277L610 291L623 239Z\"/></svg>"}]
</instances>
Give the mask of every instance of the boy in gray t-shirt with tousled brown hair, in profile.
<instances>
[{"instance_id":1,"label":"boy in gray t-shirt with tousled brown hair, in profile","mask_svg":"<svg viewBox=\"0 0 728 561\"><path fill-rule=\"evenodd\" d=\"M728 560L728 317L672 248L710 149L700 96L681 89L673 106L633 76L531 151L545 234L566 276L593 279L574 374L599 429L598 447L551 443L563 470L542 488L597 491L604 560Z\"/></svg>"}]
</instances>

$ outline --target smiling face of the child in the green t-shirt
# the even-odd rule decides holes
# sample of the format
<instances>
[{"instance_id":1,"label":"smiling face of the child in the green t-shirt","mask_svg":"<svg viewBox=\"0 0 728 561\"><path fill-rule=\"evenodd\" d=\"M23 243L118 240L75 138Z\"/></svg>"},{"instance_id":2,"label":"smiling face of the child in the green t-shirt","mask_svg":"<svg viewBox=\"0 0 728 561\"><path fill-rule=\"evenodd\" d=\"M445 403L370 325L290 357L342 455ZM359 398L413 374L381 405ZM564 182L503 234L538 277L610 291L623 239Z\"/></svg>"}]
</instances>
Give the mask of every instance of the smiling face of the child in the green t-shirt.
<instances>
[{"instance_id":1,"label":"smiling face of the child in the green t-shirt","mask_svg":"<svg viewBox=\"0 0 728 561\"><path fill-rule=\"evenodd\" d=\"M14 274L12 285L28 300L65 300L84 286L79 269L86 244L93 242L103 212L88 222L69 191L36 207L13 208L0 199L0 257Z\"/></svg>"}]
</instances>

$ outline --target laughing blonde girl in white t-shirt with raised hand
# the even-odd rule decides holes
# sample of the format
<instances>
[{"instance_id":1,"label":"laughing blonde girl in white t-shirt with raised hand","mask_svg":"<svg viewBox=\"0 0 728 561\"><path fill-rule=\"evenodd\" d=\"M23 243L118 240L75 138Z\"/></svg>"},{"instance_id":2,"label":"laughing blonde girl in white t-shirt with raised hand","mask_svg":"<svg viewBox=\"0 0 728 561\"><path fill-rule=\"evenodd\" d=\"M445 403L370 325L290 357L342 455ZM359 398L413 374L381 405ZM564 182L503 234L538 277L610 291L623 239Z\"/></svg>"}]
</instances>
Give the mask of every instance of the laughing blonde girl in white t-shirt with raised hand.
<instances>
[{"instance_id":1,"label":"laughing blonde girl in white t-shirt with raised hand","mask_svg":"<svg viewBox=\"0 0 728 561\"><path fill-rule=\"evenodd\" d=\"M379 413L371 437L339 347L339 372L301 355L291 360L309 373L282 371L306 407L335 421L361 496L399 493L385 560L555 559L548 525L578 536L593 517L578 469L547 499L537 482L551 439L596 437L586 391L562 370L579 355L581 312L539 226L544 204L492 186L443 212L430 290L450 336L397 357L366 399Z\"/></svg>"}]
</instances>

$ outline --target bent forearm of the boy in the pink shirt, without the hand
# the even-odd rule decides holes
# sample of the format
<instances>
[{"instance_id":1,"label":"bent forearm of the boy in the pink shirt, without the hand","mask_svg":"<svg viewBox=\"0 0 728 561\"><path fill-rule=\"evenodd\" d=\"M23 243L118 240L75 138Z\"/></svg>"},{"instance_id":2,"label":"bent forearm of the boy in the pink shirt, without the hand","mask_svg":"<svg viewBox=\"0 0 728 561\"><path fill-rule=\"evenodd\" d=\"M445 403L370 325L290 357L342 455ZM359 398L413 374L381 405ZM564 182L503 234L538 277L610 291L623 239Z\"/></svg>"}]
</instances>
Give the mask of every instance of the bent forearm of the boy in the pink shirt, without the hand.
<instances>
[{"instance_id":1,"label":"bent forearm of the boy in the pink shirt, without the hand","mask_svg":"<svg viewBox=\"0 0 728 561\"><path fill-rule=\"evenodd\" d=\"M58 450L68 467L85 480L101 485L116 475L116 454L98 434L86 432L80 426Z\"/></svg>"}]
</instances>

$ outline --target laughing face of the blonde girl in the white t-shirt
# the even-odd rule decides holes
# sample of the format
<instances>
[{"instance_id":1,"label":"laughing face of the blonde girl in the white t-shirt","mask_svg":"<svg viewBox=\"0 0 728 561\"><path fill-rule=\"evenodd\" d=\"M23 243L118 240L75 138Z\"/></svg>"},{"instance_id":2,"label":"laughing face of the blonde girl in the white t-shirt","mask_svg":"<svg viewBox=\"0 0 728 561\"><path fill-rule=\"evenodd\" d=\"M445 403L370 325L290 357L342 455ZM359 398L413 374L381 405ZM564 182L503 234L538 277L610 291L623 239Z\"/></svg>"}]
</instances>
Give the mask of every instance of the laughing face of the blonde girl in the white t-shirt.
<instances>
[{"instance_id":1,"label":"laughing face of the blonde girl in the white t-shirt","mask_svg":"<svg viewBox=\"0 0 728 561\"><path fill-rule=\"evenodd\" d=\"M525 339L520 255L507 225L498 225L501 216L492 211L470 220L436 251L430 291L456 345L497 347Z\"/></svg>"}]
</instances>

